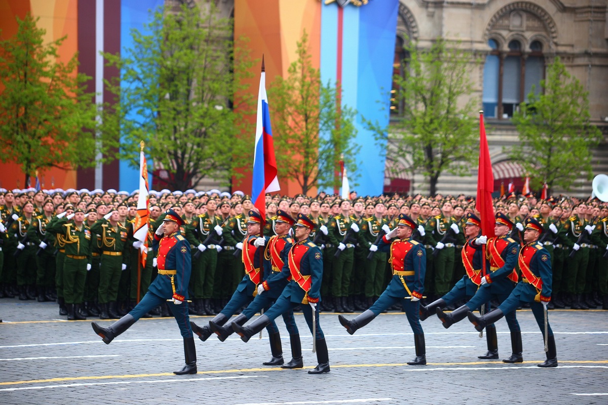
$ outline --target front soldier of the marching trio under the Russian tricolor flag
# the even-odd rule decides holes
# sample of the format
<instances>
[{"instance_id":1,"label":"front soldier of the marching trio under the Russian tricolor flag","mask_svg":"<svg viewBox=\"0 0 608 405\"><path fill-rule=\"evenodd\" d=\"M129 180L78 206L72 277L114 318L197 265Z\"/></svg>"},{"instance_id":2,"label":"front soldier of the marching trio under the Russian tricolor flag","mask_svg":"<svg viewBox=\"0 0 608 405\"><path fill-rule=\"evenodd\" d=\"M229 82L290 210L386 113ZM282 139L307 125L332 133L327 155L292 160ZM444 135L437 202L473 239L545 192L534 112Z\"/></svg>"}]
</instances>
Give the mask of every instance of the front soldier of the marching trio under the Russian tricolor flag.
<instances>
[{"instance_id":1,"label":"front soldier of the marching trio under the Russian tricolor flag","mask_svg":"<svg viewBox=\"0 0 608 405\"><path fill-rule=\"evenodd\" d=\"M243 327L233 322L232 328L241 336L243 342L247 342L251 336L260 332L279 315L286 311L292 311L294 307L300 304L305 304L302 307L302 313L313 334L313 339L315 339L317 361L319 362L317 367L308 370L308 373L321 374L330 372L330 357L325 335L323 335L323 330L319 325L317 303L321 299L319 290L323 279L323 255L320 248L309 239L314 229L315 225L312 219L304 214L298 215L298 222L295 223L296 241L289 249L281 273L264 281L259 288L261 294L266 294L268 291L275 289L283 289L281 296L264 315L256 318L251 324ZM283 288L285 280L288 280L289 284ZM313 316L315 327L313 327Z\"/></svg>"}]
</instances>

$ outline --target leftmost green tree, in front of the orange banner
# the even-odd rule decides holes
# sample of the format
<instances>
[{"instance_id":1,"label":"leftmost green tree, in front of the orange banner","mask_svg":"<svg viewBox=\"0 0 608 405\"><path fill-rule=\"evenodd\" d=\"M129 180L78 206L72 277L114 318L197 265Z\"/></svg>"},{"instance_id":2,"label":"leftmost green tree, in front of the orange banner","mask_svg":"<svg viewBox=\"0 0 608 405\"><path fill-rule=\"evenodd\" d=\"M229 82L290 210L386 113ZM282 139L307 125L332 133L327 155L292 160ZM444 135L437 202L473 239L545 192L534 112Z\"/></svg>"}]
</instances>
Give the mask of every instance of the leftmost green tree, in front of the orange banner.
<instances>
[{"instance_id":1,"label":"leftmost green tree, in front of the orange banner","mask_svg":"<svg viewBox=\"0 0 608 405\"><path fill-rule=\"evenodd\" d=\"M89 77L75 73L77 55L58 60L66 37L44 44L37 21L17 18L16 35L0 40L0 159L20 165L26 185L36 170L94 166L96 152Z\"/></svg>"}]
</instances>

